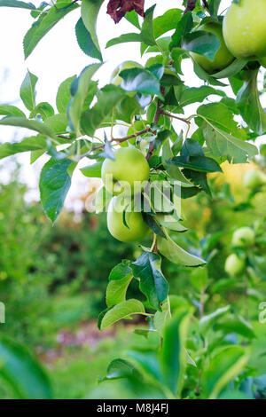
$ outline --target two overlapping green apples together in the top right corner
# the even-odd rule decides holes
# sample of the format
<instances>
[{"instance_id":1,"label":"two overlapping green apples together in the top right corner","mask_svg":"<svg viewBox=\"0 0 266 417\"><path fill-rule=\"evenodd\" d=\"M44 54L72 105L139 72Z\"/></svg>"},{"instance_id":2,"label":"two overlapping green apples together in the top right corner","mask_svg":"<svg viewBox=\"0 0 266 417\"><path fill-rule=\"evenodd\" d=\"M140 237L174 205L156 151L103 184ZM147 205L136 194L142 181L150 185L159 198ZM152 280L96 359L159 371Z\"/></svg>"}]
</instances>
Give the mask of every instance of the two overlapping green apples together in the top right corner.
<instances>
[{"instance_id":1,"label":"two overlapping green apples together in the top right corner","mask_svg":"<svg viewBox=\"0 0 266 417\"><path fill-rule=\"evenodd\" d=\"M228 9L223 24L207 21L197 30L217 36L220 47L211 60L192 52L192 59L208 74L215 74L228 67L234 59L257 60L266 67L266 2L265 0L241 0Z\"/></svg>"}]
</instances>

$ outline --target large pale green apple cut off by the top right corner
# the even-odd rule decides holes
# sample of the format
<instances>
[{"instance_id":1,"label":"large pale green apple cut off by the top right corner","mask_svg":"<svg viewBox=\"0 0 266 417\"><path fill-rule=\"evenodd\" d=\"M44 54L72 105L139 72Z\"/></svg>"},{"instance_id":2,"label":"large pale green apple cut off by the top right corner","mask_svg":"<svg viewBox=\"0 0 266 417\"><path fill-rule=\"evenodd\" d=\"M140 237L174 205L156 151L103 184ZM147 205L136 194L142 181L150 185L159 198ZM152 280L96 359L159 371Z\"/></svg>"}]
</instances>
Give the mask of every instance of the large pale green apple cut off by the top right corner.
<instances>
[{"instance_id":1,"label":"large pale green apple cut off by the top right corner","mask_svg":"<svg viewBox=\"0 0 266 417\"><path fill-rule=\"evenodd\" d=\"M232 3L223 19L223 38L237 58L266 57L266 2L241 0Z\"/></svg>"}]
</instances>

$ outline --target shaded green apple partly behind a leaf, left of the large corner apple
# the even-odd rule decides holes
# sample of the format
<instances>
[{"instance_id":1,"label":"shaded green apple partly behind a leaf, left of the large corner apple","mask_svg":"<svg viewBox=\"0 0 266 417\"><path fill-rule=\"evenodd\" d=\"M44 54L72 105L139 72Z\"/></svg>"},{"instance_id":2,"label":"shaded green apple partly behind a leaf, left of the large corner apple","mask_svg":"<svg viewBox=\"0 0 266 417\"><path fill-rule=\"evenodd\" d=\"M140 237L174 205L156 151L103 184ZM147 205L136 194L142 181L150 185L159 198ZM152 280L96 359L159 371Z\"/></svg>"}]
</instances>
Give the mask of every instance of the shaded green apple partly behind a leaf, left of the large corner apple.
<instances>
[{"instance_id":1,"label":"shaded green apple partly behind a leaf, left of the large corner apple","mask_svg":"<svg viewBox=\"0 0 266 417\"><path fill-rule=\"evenodd\" d=\"M205 23L200 26L199 30L205 30L206 32L216 35L220 41L220 48L216 52L214 60L208 59L195 52L191 52L192 59L209 74L214 74L221 71L223 68L228 67L234 60L234 57L231 55L230 51L228 51L223 41L222 25L218 22Z\"/></svg>"}]
</instances>

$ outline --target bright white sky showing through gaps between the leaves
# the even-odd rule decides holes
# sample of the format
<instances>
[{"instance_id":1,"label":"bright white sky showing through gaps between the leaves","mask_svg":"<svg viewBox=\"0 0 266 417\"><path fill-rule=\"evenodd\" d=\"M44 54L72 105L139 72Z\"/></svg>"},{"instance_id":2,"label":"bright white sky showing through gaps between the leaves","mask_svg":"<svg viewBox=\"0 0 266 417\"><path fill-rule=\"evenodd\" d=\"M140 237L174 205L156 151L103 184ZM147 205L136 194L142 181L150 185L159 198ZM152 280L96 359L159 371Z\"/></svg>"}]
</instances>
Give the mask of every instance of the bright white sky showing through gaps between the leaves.
<instances>
[{"instance_id":1,"label":"bright white sky showing through gaps between the leaves","mask_svg":"<svg viewBox=\"0 0 266 417\"><path fill-rule=\"evenodd\" d=\"M31 3L38 6L40 0L31 0ZM145 0L145 8L150 7L154 0ZM162 14L169 8L181 7L182 0L158 0L155 8L155 16ZM135 31L135 28L127 22L121 20L115 25L113 20L106 15L106 2L103 4L98 16L98 39L103 51L105 65L100 68L97 76L100 85L109 83L110 74L113 68L125 60L137 60L144 62L140 58L138 43L125 43L115 45L105 50L106 42L122 33ZM221 10L225 9L231 0L223 0ZM39 80L36 85L37 95L36 102L48 101L55 105L56 93L59 84L67 77L79 75L82 68L94 62L93 59L86 56L76 43L74 35L74 26L80 17L80 9L70 12L64 20L61 20L51 31L43 37L38 43L35 50L25 61L23 56L22 40L28 28L33 23L33 18L29 11L14 8L0 8L0 103L8 103L20 106L26 110L20 100L20 84L26 75L27 69ZM147 57L147 56L146 56ZM147 59L147 58L145 58ZM192 72L192 62L185 59L183 67L186 84L190 86L200 86L202 82ZM193 109L188 108L188 111ZM182 128L182 124L179 125ZM177 128L179 127L177 126ZM13 130L10 127L0 127L0 142L11 141L15 138L28 136L28 130ZM29 154L21 154L19 161L22 164L20 179L27 182L30 192L27 195L28 200L39 199L37 189L39 171L43 165L43 160L36 161L34 165L29 164ZM86 164L86 162L83 162ZM1 170L1 181L6 182L10 177L10 171L13 167L12 158L6 162L0 162L4 165ZM86 192L88 180L81 173L76 172L73 177L71 193L69 193L66 206L73 207L78 205L76 196Z\"/></svg>"}]
</instances>

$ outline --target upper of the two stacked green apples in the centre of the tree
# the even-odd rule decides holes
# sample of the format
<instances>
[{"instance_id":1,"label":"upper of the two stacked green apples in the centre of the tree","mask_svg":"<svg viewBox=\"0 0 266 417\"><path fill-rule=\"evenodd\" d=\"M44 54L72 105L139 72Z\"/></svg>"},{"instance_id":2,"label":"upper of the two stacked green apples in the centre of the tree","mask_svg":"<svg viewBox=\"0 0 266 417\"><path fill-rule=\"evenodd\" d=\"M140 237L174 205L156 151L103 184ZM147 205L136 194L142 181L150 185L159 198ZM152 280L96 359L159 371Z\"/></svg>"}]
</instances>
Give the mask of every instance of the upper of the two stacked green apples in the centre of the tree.
<instances>
[{"instance_id":1,"label":"upper of the two stacked green apples in the centre of the tree","mask_svg":"<svg viewBox=\"0 0 266 417\"><path fill-rule=\"evenodd\" d=\"M133 194L139 192L136 182L147 181L150 167L136 147L120 148L114 153L115 161L106 158L102 165L102 180L109 193Z\"/></svg>"}]
</instances>

